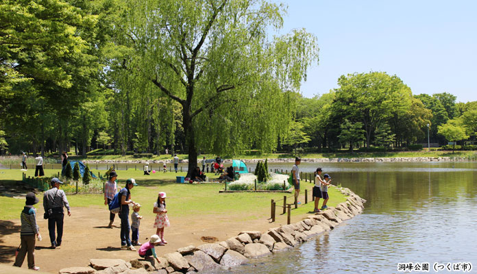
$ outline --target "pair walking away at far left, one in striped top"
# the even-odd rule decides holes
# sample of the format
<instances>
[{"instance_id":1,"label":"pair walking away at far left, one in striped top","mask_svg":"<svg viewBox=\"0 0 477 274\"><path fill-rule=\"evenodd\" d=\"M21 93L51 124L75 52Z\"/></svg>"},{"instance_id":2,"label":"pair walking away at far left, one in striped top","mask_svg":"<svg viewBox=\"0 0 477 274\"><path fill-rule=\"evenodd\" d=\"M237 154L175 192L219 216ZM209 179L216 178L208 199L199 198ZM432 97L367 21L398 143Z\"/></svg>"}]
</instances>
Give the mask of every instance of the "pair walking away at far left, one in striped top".
<instances>
[{"instance_id":1,"label":"pair walking away at far left, one in striped top","mask_svg":"<svg viewBox=\"0 0 477 274\"><path fill-rule=\"evenodd\" d=\"M68 212L68 216L71 216L71 210L66 199L66 194L63 190L60 190L60 184L63 182L60 179L53 177L51 179L51 189L45 191L43 194L43 208L45 209L44 218L48 219L48 231L51 242L51 249L56 249L62 242L63 237L63 219L64 208ZM21 244L19 247L19 253L16 255L14 266L23 264L25 256L27 256L28 268L32 270L40 270L35 265L34 251L36 246L36 239L42 240L40 235L40 228L36 223L36 208L34 205L38 203L38 197L34 192L29 192L26 196L25 207L20 214L21 231L20 238Z\"/></svg>"}]
</instances>

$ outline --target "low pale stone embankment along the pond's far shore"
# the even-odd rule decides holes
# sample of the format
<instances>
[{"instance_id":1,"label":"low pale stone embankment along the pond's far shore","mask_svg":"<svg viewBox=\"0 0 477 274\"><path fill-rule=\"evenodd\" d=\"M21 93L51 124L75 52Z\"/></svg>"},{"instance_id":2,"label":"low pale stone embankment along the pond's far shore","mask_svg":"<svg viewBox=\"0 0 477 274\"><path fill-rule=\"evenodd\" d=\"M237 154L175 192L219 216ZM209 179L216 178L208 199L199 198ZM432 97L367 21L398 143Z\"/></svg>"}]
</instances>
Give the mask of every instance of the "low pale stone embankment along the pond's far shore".
<instances>
[{"instance_id":1,"label":"low pale stone embankment along the pond's far shore","mask_svg":"<svg viewBox=\"0 0 477 274\"><path fill-rule=\"evenodd\" d=\"M172 163L171 160L83 160L88 164L162 164ZM200 163L201 159L197 162ZM222 160L224 164L231 163L232 160ZM243 162L256 163L265 161L265 159L243 159ZM396 158L302 158L302 163L321 163L321 162L464 162L469 161L465 157L396 157ZM179 160L181 163L188 163L188 160ZM268 159L269 163L293 163L293 158Z\"/></svg>"}]
</instances>

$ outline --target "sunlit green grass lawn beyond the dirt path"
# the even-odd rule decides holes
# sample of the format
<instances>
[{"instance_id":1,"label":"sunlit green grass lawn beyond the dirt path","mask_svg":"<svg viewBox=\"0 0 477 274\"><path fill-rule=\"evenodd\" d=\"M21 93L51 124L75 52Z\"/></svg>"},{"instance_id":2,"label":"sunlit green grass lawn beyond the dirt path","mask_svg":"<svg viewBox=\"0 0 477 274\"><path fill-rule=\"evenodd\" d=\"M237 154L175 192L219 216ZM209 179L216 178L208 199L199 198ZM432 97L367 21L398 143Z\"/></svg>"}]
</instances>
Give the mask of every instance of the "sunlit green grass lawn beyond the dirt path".
<instances>
[{"instance_id":1,"label":"sunlit green grass lawn beyond the dirt path","mask_svg":"<svg viewBox=\"0 0 477 274\"><path fill-rule=\"evenodd\" d=\"M45 175L51 176L58 174L60 170L45 170ZM15 184L21 180L22 171L3 170L0 175L0 184ZM97 171L93 171L97 174ZM101 171L102 173L104 171ZM34 171L27 171L27 176L32 176ZM282 206L284 195L287 197L287 203L293 203L293 193L280 192L234 192L219 193L224 189L224 184L175 184L175 176L185 173L156 173L154 175L143 175L143 171L118 171L118 184L123 187L127 178L136 179L138 186L135 186L132 192L132 199L141 204L140 214L154 217L153 204L157 200L158 192L167 193L168 214L173 216L188 216L189 214L223 214L233 216L243 212L249 212L245 219L254 219L254 212L269 212L271 199L277 201L278 206ZM211 174L209 174L211 175ZM313 184L302 182L302 197L299 198L303 204L296 210L292 210L292 215L303 214L313 211L313 201L311 201L311 189ZM304 204L304 189L308 189L308 204ZM345 196L338 192L336 188L329 189L330 201L328 206L337 206L338 203L345 201ZM42 207L42 194L37 195L40 199L37 207ZM91 195L68 195L68 200L73 210L75 207L87 208L106 208L102 194ZM0 197L0 219L10 220L19 219L19 212L25 204L24 199L15 199L10 197ZM320 201L321 205L322 201ZM293 208L293 206L292 206ZM277 208L277 214L282 212ZM244 220L246 221L246 220Z\"/></svg>"}]
</instances>

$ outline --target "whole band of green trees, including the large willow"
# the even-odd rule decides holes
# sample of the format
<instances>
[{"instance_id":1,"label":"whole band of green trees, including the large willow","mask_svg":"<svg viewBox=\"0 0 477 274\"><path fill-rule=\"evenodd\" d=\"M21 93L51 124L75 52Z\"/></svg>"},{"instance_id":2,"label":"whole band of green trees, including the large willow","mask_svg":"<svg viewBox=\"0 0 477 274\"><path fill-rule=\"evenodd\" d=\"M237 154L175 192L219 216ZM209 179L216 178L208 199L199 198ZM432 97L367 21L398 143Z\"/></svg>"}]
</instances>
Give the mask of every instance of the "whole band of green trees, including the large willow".
<instances>
[{"instance_id":1,"label":"whole band of green trees, including the large willow","mask_svg":"<svg viewBox=\"0 0 477 274\"><path fill-rule=\"evenodd\" d=\"M299 95L318 63L305 29L271 36L283 5L258 0L5 0L0 151L234 155L444 143L475 136L476 103L412 95L396 75L354 73ZM455 130L454 130L455 132Z\"/></svg>"}]
</instances>

